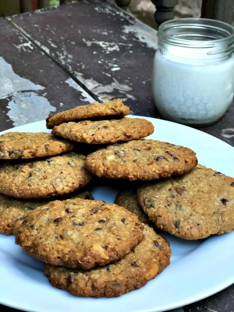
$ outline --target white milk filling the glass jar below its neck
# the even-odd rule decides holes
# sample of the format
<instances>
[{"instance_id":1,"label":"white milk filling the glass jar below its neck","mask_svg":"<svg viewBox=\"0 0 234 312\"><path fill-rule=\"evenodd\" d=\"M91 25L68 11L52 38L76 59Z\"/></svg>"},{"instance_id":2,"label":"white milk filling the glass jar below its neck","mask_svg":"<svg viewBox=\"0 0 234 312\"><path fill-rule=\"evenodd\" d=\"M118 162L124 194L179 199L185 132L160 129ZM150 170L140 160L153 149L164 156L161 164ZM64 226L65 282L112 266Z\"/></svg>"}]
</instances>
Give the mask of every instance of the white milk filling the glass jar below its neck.
<instances>
[{"instance_id":1,"label":"white milk filling the glass jar below its neck","mask_svg":"<svg viewBox=\"0 0 234 312\"><path fill-rule=\"evenodd\" d=\"M197 64L196 64L197 63ZM178 123L208 125L232 103L234 56L222 61L163 55L154 57L152 91L164 118Z\"/></svg>"}]
</instances>

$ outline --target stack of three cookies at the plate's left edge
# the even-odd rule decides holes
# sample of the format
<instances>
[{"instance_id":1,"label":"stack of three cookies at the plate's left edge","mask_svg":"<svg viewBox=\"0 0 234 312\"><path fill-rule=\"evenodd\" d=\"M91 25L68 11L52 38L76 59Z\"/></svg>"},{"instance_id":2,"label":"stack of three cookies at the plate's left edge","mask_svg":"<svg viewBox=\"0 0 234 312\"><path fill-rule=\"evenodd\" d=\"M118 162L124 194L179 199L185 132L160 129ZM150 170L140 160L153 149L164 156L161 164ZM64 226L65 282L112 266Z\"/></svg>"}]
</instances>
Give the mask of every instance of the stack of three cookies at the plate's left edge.
<instances>
[{"instance_id":1,"label":"stack of three cookies at the plate's left edge","mask_svg":"<svg viewBox=\"0 0 234 312\"><path fill-rule=\"evenodd\" d=\"M56 196L91 198L80 193L91 175L74 146L45 132L0 136L0 159L7 161L0 168L0 233L12 234L16 221Z\"/></svg>"}]
</instances>

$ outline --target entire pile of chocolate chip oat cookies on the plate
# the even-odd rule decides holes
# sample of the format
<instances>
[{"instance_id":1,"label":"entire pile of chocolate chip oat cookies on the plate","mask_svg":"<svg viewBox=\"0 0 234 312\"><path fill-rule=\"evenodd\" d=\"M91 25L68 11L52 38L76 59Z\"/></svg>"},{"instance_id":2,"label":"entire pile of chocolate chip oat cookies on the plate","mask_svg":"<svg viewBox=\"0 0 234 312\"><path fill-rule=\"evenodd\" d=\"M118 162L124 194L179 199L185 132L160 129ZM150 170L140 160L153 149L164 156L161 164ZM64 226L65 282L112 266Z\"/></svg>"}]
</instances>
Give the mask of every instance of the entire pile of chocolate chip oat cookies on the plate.
<instances>
[{"instance_id":1,"label":"entire pile of chocolate chip oat cookies on the plate","mask_svg":"<svg viewBox=\"0 0 234 312\"><path fill-rule=\"evenodd\" d=\"M156 227L183 239L234 228L234 179L197 165L191 149L143 139L153 124L128 114L120 99L95 102L49 116L52 134L0 136L0 158L11 160L0 168L0 231L14 232L51 284L73 295L119 296L157 276L171 250ZM95 147L87 157L84 144ZM74 194L93 175L130 189L115 204Z\"/></svg>"}]
</instances>

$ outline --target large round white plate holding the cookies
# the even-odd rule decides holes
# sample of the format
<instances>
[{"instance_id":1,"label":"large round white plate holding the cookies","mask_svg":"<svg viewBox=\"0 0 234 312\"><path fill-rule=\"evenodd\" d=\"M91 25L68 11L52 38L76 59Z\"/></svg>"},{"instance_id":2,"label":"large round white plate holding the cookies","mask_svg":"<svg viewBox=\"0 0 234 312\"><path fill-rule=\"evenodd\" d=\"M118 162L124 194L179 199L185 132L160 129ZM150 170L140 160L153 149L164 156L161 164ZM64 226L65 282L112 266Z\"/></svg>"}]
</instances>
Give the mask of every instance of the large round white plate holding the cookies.
<instances>
[{"instance_id":1,"label":"large round white plate holding the cookies","mask_svg":"<svg viewBox=\"0 0 234 312\"><path fill-rule=\"evenodd\" d=\"M149 138L189 147L197 152L199 163L234 177L232 146L181 124L144 118L155 127ZM7 131L49 132L45 121ZM97 200L113 202L117 190L97 187L92 193ZM121 297L94 299L52 287L43 274L43 263L15 245L13 236L0 234L0 302L37 312L159 312L200 300L234 282L234 231L198 241L165 236L171 244L171 264L157 278Z\"/></svg>"}]
</instances>

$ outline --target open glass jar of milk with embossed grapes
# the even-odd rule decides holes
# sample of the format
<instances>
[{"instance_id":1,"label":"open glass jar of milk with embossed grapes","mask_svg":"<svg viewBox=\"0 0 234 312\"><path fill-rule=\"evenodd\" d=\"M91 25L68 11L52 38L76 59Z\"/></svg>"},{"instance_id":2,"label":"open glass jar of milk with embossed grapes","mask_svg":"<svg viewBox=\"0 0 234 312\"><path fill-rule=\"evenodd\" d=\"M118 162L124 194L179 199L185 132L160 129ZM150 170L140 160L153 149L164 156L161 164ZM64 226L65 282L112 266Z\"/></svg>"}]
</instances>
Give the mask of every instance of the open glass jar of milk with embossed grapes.
<instances>
[{"instance_id":1,"label":"open glass jar of milk with embossed grapes","mask_svg":"<svg viewBox=\"0 0 234 312\"><path fill-rule=\"evenodd\" d=\"M152 90L164 118L209 125L232 103L234 27L205 18L164 22L158 29Z\"/></svg>"}]
</instances>

